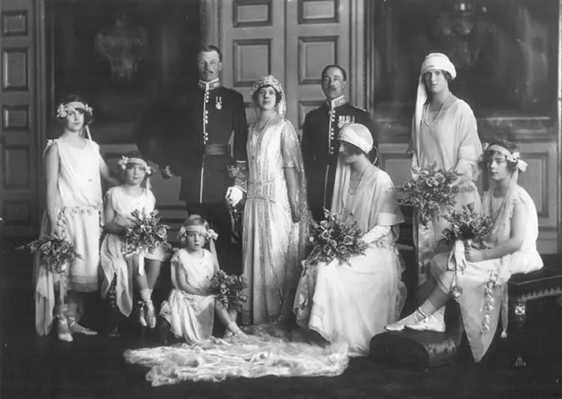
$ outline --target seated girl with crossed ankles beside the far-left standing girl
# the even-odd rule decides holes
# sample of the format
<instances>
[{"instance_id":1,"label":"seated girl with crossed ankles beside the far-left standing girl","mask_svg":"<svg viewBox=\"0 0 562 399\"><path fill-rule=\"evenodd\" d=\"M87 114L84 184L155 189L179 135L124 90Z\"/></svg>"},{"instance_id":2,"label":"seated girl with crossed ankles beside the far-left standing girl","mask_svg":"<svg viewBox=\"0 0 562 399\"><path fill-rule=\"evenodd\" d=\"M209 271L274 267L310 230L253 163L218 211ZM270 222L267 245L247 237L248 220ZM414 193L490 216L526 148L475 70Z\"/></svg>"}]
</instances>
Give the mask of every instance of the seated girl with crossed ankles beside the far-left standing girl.
<instances>
[{"instance_id":1,"label":"seated girl with crossed ankles beside the far-left standing girl","mask_svg":"<svg viewBox=\"0 0 562 399\"><path fill-rule=\"evenodd\" d=\"M141 296L138 303L138 321L150 328L156 326L156 313L152 304L152 291L164 259L163 248L152 253L124 253L123 234L130 223L134 210L150 215L155 209L156 198L150 190L152 170L138 151L123 156L119 161L124 183L109 189L105 202L105 226L107 233L101 248L103 281L101 295L110 294L112 312L128 317L133 309L133 280ZM116 316L116 315L114 315ZM118 316L118 315L117 315ZM113 317L110 335L117 336L117 317Z\"/></svg>"}]
</instances>

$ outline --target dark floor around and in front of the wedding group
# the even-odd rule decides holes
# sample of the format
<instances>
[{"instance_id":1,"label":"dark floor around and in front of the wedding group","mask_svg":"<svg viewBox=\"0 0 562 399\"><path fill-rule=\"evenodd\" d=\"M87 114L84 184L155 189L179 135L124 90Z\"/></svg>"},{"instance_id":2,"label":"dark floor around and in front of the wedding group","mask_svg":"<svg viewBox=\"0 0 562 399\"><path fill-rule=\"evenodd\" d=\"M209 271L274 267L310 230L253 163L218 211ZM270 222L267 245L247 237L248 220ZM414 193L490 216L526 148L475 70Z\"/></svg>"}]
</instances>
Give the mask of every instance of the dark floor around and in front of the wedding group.
<instances>
[{"instance_id":1,"label":"dark floor around and in front of the wedding group","mask_svg":"<svg viewBox=\"0 0 562 399\"><path fill-rule=\"evenodd\" d=\"M5 262L7 259L11 263ZM529 318L528 367L511 367L509 341L497 339L482 363L469 353L455 365L402 370L354 358L334 378L231 379L152 388L146 369L125 363L125 349L158 344L155 331L125 330L110 339L76 337L72 344L38 337L33 328L29 263L4 256L1 292L0 398L562 398L562 306L541 301ZM100 299L92 295L85 325L103 330ZM531 305L530 305L531 306ZM558 379L559 378L559 379Z\"/></svg>"}]
</instances>

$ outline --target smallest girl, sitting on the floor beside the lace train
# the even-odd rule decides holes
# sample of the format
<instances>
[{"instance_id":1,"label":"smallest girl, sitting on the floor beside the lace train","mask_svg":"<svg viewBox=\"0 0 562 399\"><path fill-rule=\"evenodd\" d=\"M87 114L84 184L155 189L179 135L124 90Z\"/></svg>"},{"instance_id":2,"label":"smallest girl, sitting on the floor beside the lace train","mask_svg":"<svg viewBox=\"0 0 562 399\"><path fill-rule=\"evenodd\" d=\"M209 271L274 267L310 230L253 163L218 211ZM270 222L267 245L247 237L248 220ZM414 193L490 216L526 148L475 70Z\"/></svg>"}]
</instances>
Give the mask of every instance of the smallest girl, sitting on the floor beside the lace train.
<instances>
[{"instance_id":1,"label":"smallest girl, sitting on the floor beside the lace train","mask_svg":"<svg viewBox=\"0 0 562 399\"><path fill-rule=\"evenodd\" d=\"M211 278L218 271L218 260L211 253L214 231L200 215L190 215L179 233L183 248L171 259L172 288L169 299L162 303L160 316L164 327L176 337L192 344L209 339L213 332L214 314L226 325L227 334L240 334L242 330L228 315L228 311L215 301L209 290ZM203 248L209 240L211 251ZM214 252L214 251L213 251ZM166 323L167 322L167 323ZM164 339L166 341L166 339Z\"/></svg>"}]
</instances>

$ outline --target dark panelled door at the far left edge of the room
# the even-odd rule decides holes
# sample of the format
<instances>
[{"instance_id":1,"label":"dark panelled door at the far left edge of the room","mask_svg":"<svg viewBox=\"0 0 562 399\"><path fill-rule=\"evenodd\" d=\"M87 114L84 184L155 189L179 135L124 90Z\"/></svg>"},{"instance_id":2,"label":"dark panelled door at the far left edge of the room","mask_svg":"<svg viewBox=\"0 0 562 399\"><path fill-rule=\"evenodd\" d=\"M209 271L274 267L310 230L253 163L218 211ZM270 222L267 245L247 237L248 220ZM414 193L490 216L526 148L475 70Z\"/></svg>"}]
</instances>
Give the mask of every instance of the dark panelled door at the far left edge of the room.
<instances>
[{"instance_id":1,"label":"dark panelled door at the far left edge of the room","mask_svg":"<svg viewBox=\"0 0 562 399\"><path fill-rule=\"evenodd\" d=\"M42 0L0 1L0 217L6 238L39 232L43 21Z\"/></svg>"}]
</instances>

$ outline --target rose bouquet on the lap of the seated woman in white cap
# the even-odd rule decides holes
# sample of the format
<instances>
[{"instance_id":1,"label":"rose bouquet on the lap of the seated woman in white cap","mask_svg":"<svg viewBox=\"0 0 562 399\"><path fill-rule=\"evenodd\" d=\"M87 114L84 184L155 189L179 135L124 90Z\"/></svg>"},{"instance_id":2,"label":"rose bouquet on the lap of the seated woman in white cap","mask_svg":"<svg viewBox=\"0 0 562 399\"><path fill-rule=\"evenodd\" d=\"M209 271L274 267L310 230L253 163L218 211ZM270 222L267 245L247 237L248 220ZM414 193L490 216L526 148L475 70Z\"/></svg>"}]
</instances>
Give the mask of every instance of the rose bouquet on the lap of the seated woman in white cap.
<instances>
[{"instance_id":1,"label":"rose bouquet on the lap of the seated woman in white cap","mask_svg":"<svg viewBox=\"0 0 562 399\"><path fill-rule=\"evenodd\" d=\"M325 209L324 215L322 222L313 220L308 227L308 242L313 245L307 258L309 264L329 263L333 259L348 262L355 255L365 255L369 245L362 240L363 232L357 222L344 222L342 212L334 214Z\"/></svg>"}]
</instances>

